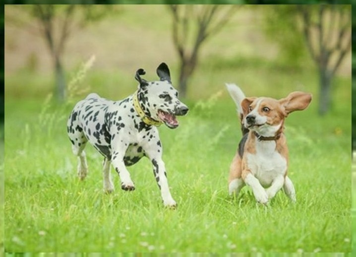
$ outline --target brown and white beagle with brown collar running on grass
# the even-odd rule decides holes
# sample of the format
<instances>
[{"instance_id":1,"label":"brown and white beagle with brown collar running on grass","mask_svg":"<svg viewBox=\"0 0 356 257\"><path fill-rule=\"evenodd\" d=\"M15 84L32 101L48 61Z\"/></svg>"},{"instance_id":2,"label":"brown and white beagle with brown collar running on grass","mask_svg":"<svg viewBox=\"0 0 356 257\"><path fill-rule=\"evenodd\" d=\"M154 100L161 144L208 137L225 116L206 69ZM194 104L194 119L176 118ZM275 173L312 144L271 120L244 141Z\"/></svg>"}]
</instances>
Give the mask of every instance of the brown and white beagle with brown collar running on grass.
<instances>
[{"instance_id":1,"label":"brown and white beagle with brown collar running on grass","mask_svg":"<svg viewBox=\"0 0 356 257\"><path fill-rule=\"evenodd\" d=\"M295 202L296 192L287 176L288 148L284 121L304 110L311 94L292 92L286 98L245 97L235 84L226 84L237 105L243 137L230 166L229 193L239 193L247 184L256 200L267 203L282 189Z\"/></svg>"}]
</instances>

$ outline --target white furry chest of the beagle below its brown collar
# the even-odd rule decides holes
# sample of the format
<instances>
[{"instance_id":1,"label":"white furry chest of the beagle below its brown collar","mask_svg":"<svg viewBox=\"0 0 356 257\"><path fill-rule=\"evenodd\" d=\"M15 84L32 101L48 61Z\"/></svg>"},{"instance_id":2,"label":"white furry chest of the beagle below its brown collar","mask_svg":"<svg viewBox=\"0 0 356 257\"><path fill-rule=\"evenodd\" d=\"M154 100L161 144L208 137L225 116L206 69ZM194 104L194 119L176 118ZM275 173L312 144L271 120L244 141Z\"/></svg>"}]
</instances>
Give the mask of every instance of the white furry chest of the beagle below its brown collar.
<instances>
[{"instance_id":1,"label":"white furry chest of the beagle below its brown collar","mask_svg":"<svg viewBox=\"0 0 356 257\"><path fill-rule=\"evenodd\" d=\"M287 160L276 150L275 141L256 141L256 153L247 153L247 166L263 187L287 171Z\"/></svg>"}]
</instances>

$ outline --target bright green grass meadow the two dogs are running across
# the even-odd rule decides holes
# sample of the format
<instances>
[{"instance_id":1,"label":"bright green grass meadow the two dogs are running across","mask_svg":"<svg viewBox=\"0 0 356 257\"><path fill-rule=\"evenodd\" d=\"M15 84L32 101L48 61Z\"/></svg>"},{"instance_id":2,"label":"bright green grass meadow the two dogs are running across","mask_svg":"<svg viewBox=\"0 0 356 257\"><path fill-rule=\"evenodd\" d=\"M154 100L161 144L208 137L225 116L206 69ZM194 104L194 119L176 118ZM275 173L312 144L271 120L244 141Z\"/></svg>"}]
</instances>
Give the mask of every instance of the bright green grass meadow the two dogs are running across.
<instances>
[{"instance_id":1,"label":"bright green grass meadow the two dogs are running across","mask_svg":"<svg viewBox=\"0 0 356 257\"><path fill-rule=\"evenodd\" d=\"M313 100L287 120L296 204L280 192L262 206L247 187L229 197L234 103L226 92L187 101L179 128L159 128L176 210L162 206L147 159L129 167L134 192L121 191L112 170L116 192L107 195L103 158L87 146L89 174L77 179L65 128L72 104L49 106L39 121L39 101L6 99L5 251L351 252L351 101L339 88L327 116Z\"/></svg>"}]
</instances>

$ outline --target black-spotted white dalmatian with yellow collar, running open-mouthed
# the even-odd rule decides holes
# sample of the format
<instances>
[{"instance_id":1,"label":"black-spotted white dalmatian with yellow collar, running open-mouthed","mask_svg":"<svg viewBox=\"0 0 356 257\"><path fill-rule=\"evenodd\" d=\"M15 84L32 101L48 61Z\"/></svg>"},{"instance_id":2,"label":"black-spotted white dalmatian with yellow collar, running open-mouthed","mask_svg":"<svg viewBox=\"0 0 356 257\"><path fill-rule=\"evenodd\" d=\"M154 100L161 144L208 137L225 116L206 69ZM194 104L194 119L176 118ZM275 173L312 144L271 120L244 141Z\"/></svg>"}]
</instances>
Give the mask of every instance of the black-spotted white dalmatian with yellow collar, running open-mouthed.
<instances>
[{"instance_id":1,"label":"black-spotted white dalmatian with yellow collar, running open-mouthed","mask_svg":"<svg viewBox=\"0 0 356 257\"><path fill-rule=\"evenodd\" d=\"M178 100L178 91L172 86L167 64L157 67L159 81L141 78L146 72L140 68L135 79L137 91L119 101L110 101L91 93L79 101L67 122L72 151L78 157L78 176L83 180L88 173L84 147L89 141L105 158L103 164L104 191L114 191L110 175L112 164L119 174L121 189L133 191L135 186L126 166L148 157L153 165L163 204L175 207L162 160L162 144L157 127L165 124L177 128L176 116L183 116L188 107Z\"/></svg>"}]
</instances>

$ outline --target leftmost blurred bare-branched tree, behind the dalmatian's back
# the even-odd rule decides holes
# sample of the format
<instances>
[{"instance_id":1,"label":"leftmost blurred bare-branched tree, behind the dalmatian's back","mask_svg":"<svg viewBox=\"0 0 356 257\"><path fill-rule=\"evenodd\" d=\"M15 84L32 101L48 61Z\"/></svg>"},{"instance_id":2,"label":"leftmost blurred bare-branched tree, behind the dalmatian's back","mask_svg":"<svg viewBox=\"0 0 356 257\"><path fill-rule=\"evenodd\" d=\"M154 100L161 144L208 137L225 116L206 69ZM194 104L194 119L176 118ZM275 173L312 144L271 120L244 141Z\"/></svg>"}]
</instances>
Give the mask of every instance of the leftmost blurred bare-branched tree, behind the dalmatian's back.
<instances>
[{"instance_id":1,"label":"leftmost blurred bare-branched tree, behind the dalmatian's back","mask_svg":"<svg viewBox=\"0 0 356 257\"><path fill-rule=\"evenodd\" d=\"M85 0L83 1L86 2ZM109 5L91 4L35 4L20 6L39 23L40 35L44 38L54 67L56 97L64 101L66 80L63 68L63 54L66 42L73 31L83 28L91 21L97 21L109 13Z\"/></svg>"}]
</instances>

